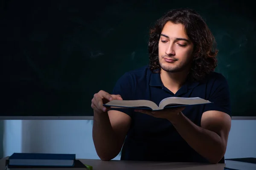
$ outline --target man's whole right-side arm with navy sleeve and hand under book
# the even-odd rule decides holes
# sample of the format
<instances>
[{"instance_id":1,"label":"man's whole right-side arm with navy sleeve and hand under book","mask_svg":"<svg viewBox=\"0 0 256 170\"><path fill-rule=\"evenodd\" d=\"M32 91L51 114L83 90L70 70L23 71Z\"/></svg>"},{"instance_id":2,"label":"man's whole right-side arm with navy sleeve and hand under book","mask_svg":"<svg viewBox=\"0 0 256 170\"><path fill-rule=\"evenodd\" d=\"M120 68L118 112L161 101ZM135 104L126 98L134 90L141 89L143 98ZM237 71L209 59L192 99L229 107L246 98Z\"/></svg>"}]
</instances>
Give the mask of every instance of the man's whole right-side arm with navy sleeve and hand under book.
<instances>
[{"instance_id":1,"label":"man's whole right-side arm with navy sleeve and hand under book","mask_svg":"<svg viewBox=\"0 0 256 170\"><path fill-rule=\"evenodd\" d=\"M210 97L207 98L212 103L204 106L201 127L183 115L182 110L185 107L153 112L138 110L138 112L168 119L180 136L195 151L210 163L218 163L226 152L227 138L231 127L230 95L224 76L218 74L212 82L214 82L211 89L212 94L209 94Z\"/></svg>"}]
</instances>

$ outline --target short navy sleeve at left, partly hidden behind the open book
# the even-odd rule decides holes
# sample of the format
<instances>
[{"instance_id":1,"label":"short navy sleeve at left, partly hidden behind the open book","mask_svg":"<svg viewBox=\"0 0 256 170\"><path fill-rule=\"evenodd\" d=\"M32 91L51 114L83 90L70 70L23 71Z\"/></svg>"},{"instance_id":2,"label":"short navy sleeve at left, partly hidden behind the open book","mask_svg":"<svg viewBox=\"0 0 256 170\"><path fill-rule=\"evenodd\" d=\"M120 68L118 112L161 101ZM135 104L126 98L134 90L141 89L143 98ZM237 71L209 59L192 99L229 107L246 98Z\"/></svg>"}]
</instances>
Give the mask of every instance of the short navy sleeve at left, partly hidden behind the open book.
<instances>
[{"instance_id":1,"label":"short navy sleeve at left, partly hidden behind the open book","mask_svg":"<svg viewBox=\"0 0 256 170\"><path fill-rule=\"evenodd\" d=\"M112 94L119 94L123 100L133 99L133 82L131 79L131 74L125 73L120 77L112 91ZM132 117L133 109L129 108L112 108L111 110L121 111Z\"/></svg>"}]
</instances>

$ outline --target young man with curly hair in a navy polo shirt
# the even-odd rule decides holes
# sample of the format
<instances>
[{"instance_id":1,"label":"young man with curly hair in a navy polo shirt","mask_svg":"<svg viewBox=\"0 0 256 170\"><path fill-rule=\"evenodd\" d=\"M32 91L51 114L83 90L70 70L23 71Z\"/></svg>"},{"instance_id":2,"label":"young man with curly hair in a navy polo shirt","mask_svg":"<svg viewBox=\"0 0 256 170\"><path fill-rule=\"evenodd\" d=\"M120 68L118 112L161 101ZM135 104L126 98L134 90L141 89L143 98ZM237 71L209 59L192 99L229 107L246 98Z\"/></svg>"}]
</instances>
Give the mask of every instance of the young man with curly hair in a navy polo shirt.
<instances>
[{"instance_id":1,"label":"young man with curly hair in a navy polo shirt","mask_svg":"<svg viewBox=\"0 0 256 170\"><path fill-rule=\"evenodd\" d=\"M93 141L102 160L122 148L121 160L224 163L231 126L226 79L217 65L214 37L195 11L176 9L150 31L150 64L125 73L112 94L92 99ZM107 110L113 100L147 99L157 104L170 96L201 97L212 104L165 109Z\"/></svg>"}]
</instances>

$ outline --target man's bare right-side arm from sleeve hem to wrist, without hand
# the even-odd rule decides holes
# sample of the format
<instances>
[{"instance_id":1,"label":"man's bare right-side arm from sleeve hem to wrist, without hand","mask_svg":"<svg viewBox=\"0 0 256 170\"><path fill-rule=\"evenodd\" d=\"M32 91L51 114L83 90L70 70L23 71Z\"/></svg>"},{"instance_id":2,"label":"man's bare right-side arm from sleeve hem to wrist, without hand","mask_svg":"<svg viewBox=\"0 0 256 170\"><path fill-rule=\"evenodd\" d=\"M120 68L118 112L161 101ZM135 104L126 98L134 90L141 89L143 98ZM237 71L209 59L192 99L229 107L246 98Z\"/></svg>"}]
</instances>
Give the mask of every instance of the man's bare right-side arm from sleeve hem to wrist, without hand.
<instances>
[{"instance_id":1,"label":"man's bare right-side arm from sleeve hem to wrist, without hand","mask_svg":"<svg viewBox=\"0 0 256 170\"><path fill-rule=\"evenodd\" d=\"M227 148L231 117L220 111L206 111L202 115L201 127L195 125L181 112L170 120L183 139L210 163L220 161Z\"/></svg>"}]
</instances>

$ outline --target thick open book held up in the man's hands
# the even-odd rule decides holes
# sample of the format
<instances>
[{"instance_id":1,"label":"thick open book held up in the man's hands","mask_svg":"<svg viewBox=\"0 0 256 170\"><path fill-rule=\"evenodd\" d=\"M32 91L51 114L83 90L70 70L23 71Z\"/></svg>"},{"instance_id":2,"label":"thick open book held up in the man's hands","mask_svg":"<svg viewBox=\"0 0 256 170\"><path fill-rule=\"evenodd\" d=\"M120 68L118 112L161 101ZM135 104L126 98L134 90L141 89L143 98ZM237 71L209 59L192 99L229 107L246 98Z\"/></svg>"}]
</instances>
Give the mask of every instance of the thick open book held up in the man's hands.
<instances>
[{"instance_id":1,"label":"thick open book held up in the man's hands","mask_svg":"<svg viewBox=\"0 0 256 170\"><path fill-rule=\"evenodd\" d=\"M211 103L208 100L201 99L200 97L168 97L163 99L159 106L149 100L112 100L106 103L105 107L110 108L134 108L134 109L147 109L147 110L163 110L164 108L180 107L187 105L201 105Z\"/></svg>"}]
</instances>

